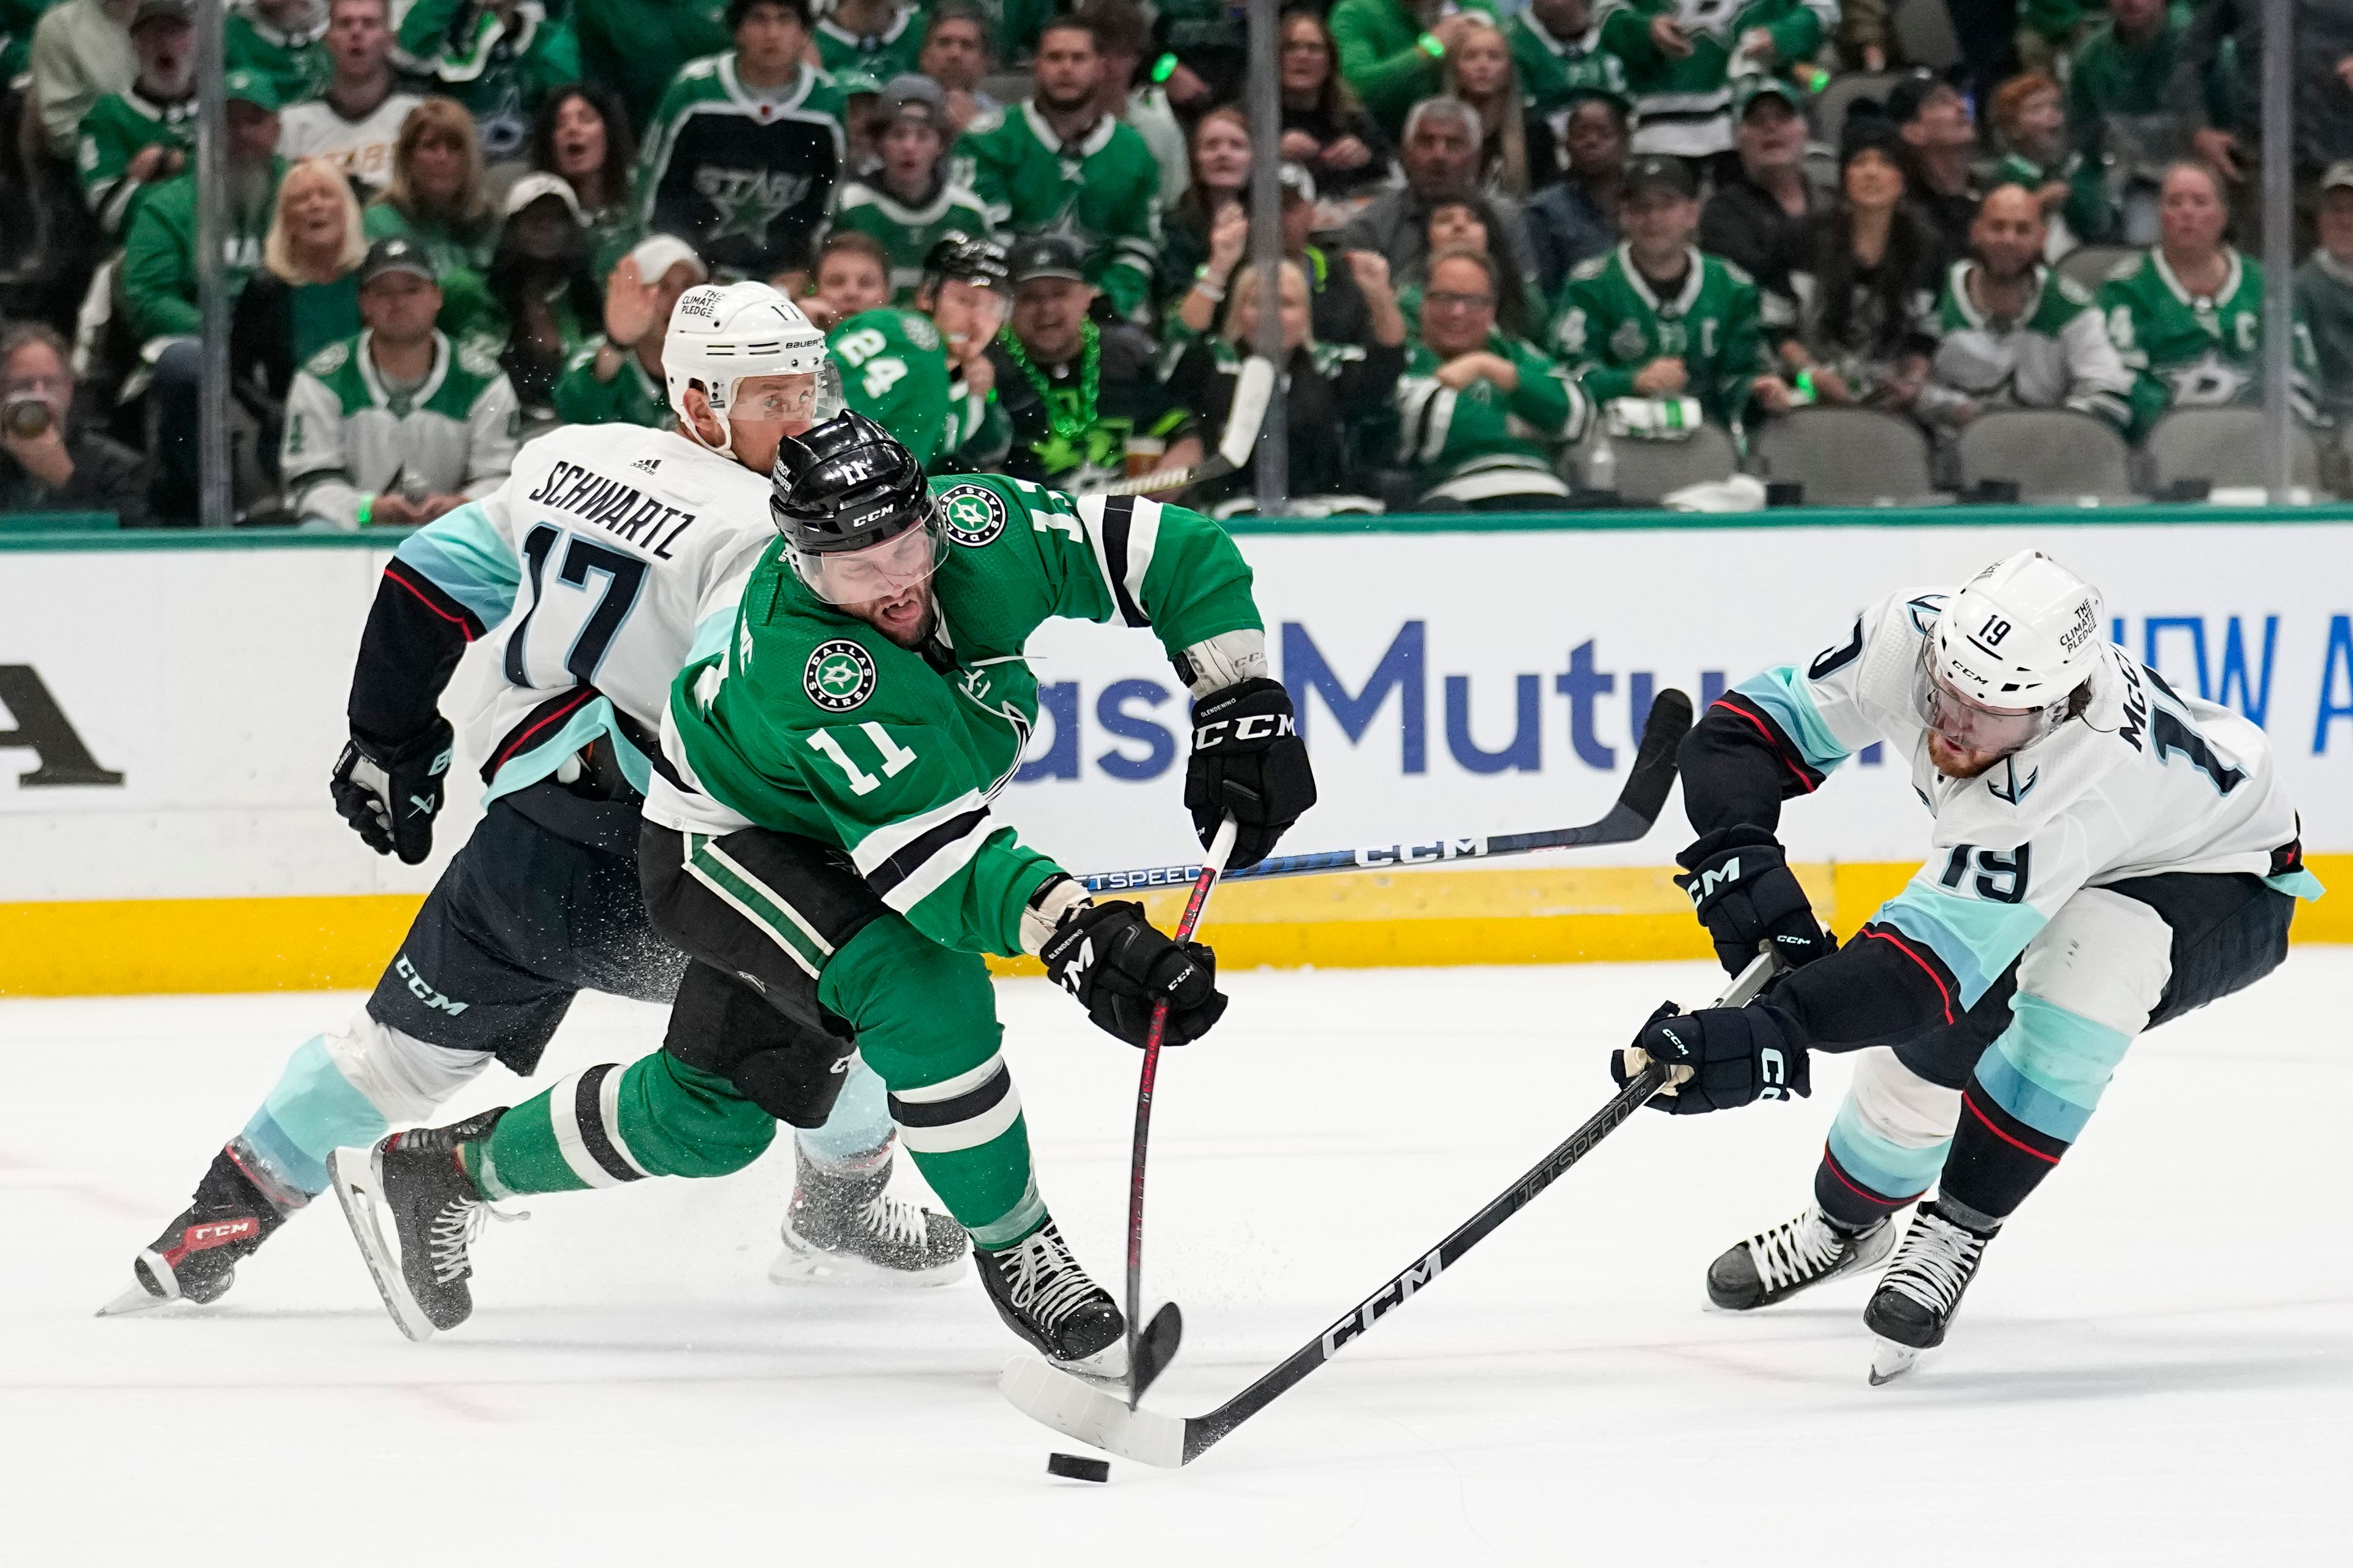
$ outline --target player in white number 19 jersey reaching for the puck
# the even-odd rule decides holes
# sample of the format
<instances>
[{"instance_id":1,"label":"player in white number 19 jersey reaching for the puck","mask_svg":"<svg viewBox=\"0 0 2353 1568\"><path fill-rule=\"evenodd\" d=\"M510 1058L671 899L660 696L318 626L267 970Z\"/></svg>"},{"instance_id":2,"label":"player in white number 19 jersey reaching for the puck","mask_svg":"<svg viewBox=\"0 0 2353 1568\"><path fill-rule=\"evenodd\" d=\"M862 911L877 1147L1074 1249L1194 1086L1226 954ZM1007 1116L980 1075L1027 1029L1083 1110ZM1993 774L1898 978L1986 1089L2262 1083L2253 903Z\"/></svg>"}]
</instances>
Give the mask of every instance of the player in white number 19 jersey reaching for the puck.
<instances>
[{"instance_id":1,"label":"player in white number 19 jersey reaching for the puck","mask_svg":"<svg viewBox=\"0 0 2353 1568\"><path fill-rule=\"evenodd\" d=\"M1944 1342L2132 1041L2278 968L2297 899L2320 897L2264 732L2174 692L2106 626L2094 586L2021 551L1958 591L1880 600L1682 744L1699 838L1675 881L1727 970L1760 946L1793 968L1746 1008L1652 1017L1635 1048L1697 1074L1652 1104L1805 1095L1809 1050L1857 1052L1814 1203L1718 1257L1708 1297L1767 1307L1892 1248L1864 1309L1873 1382ZM1911 763L1934 848L1833 946L1774 826L1873 742ZM1932 1184L1897 1241L1894 1212Z\"/></svg>"}]
</instances>

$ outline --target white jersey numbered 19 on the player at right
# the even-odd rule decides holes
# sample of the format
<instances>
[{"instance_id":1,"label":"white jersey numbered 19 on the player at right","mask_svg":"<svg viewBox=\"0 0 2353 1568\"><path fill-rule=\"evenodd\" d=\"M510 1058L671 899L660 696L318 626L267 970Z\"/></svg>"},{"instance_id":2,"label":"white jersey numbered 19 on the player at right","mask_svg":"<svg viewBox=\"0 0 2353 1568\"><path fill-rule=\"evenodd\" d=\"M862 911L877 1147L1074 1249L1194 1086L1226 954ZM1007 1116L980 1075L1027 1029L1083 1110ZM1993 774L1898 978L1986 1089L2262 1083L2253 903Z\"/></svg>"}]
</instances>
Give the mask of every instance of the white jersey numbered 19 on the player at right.
<instances>
[{"instance_id":1,"label":"white jersey numbered 19 on the player at right","mask_svg":"<svg viewBox=\"0 0 2353 1568\"><path fill-rule=\"evenodd\" d=\"M2289 855L2297 810L2264 732L2174 692L2115 643L2092 706L1974 779L1927 753L1920 645L1948 591L1894 593L1812 664L1734 687L1772 713L1809 768L1885 742L1934 815L1932 855L1873 918L1937 951L1974 1005L2078 888L2160 871L2245 871L2297 897L2320 883Z\"/></svg>"}]
</instances>

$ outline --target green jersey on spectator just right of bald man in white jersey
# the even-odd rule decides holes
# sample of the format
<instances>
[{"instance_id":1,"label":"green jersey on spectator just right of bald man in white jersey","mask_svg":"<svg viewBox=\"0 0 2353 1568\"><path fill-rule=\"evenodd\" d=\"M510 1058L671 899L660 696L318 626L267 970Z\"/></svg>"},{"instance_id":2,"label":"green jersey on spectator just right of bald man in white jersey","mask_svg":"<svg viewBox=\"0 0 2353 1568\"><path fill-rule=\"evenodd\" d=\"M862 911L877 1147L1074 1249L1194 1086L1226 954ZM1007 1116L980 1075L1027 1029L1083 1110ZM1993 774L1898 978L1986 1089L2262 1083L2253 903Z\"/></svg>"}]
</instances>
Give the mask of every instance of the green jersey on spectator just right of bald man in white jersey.
<instances>
[{"instance_id":1,"label":"green jersey on spectator just right of bald man in white jersey","mask_svg":"<svg viewBox=\"0 0 2353 1568\"><path fill-rule=\"evenodd\" d=\"M2195 297L2148 252L2120 264L2099 285L2108 341L2132 372L2132 436L2139 440L2169 407L2259 407L2264 403L2264 264L2224 247L2231 271L2212 299ZM2313 421L2313 337L2297 320L2289 398Z\"/></svg>"}]
</instances>

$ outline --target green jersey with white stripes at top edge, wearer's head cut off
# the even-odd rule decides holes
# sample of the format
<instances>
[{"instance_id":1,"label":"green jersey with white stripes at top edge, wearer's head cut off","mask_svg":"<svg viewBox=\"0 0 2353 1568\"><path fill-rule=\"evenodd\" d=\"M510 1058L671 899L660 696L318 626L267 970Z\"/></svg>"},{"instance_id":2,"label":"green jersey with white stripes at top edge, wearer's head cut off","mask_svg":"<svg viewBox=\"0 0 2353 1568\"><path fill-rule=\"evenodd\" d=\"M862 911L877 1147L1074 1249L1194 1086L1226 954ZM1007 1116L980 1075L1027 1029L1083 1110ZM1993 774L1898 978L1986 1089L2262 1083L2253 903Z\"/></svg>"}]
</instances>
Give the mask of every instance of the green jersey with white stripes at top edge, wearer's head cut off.
<instances>
[{"instance_id":1,"label":"green jersey with white stripes at top edge, wearer's head cut off","mask_svg":"<svg viewBox=\"0 0 2353 1568\"><path fill-rule=\"evenodd\" d=\"M1649 24L1673 16L1692 45L1685 57L1652 42ZM1774 71L1809 61L1838 26L1838 0L1602 0L1602 47L1626 61L1633 89L1633 151L1706 158L1732 146L1732 75L1739 42L1765 28ZM1755 71L1755 61L1741 68Z\"/></svg>"}]
</instances>

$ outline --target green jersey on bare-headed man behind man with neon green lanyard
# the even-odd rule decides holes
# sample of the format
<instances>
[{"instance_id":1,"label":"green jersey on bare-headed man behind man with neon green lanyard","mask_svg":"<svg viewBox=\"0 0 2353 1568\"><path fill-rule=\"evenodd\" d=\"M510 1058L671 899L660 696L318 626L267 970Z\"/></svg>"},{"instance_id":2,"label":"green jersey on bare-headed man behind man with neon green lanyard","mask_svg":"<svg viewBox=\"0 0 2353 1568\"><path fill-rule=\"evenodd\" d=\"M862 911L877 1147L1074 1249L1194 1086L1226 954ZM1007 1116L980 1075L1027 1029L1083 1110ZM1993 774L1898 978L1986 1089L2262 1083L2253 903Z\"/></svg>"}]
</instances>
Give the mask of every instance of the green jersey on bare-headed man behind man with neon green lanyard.
<instances>
[{"instance_id":1,"label":"green jersey on bare-headed man behind man with neon green lanyard","mask_svg":"<svg viewBox=\"0 0 2353 1568\"><path fill-rule=\"evenodd\" d=\"M974 120L955 141L955 184L988 207L993 228L1061 228L1087 247L1087 280L1111 308L1136 318L1153 292L1160 250L1160 162L1136 127L1104 115L1064 146L1024 101Z\"/></svg>"}]
</instances>

